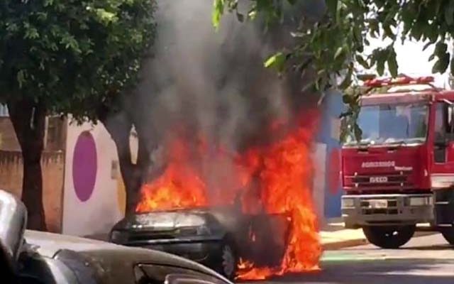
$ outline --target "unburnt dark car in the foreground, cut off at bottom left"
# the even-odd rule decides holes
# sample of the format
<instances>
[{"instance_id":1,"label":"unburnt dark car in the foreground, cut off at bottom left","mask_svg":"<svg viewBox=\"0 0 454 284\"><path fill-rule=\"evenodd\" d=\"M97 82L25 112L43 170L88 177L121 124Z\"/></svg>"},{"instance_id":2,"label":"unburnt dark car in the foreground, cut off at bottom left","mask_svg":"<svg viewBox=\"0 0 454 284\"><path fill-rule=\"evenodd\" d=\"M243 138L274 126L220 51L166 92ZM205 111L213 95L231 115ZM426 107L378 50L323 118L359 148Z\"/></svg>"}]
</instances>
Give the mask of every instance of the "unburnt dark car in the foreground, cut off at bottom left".
<instances>
[{"instance_id":1,"label":"unburnt dark car in the foreground, cut off at bottom left","mask_svg":"<svg viewBox=\"0 0 454 284\"><path fill-rule=\"evenodd\" d=\"M0 190L1 283L231 284L199 263L162 251L26 231L26 208Z\"/></svg>"}]
</instances>

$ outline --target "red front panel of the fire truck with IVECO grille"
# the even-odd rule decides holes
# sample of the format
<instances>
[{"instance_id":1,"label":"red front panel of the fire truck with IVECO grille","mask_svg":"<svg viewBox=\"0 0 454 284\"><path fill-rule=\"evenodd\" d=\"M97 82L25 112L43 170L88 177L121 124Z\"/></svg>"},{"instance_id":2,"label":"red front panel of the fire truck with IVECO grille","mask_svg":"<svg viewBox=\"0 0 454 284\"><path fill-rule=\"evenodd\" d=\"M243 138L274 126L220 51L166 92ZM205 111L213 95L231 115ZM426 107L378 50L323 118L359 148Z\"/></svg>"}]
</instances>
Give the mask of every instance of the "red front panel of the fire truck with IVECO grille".
<instances>
[{"instance_id":1,"label":"red front panel of the fire truck with IVECO grille","mask_svg":"<svg viewBox=\"0 0 454 284\"><path fill-rule=\"evenodd\" d=\"M427 192L425 145L344 148L343 188L348 195Z\"/></svg>"}]
</instances>

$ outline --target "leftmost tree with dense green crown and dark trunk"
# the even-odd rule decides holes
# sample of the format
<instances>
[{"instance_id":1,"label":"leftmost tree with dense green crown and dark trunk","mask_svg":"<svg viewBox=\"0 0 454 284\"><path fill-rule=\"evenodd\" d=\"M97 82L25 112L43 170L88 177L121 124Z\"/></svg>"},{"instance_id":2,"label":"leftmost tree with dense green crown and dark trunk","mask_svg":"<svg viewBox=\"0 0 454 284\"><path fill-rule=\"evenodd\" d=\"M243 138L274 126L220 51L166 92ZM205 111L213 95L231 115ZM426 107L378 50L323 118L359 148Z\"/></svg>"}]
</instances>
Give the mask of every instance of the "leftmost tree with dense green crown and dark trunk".
<instances>
[{"instance_id":1,"label":"leftmost tree with dense green crown and dark trunk","mask_svg":"<svg viewBox=\"0 0 454 284\"><path fill-rule=\"evenodd\" d=\"M0 4L0 102L23 155L31 229L46 229L40 158L45 116L97 121L137 79L153 40L153 0L5 0Z\"/></svg>"}]
</instances>

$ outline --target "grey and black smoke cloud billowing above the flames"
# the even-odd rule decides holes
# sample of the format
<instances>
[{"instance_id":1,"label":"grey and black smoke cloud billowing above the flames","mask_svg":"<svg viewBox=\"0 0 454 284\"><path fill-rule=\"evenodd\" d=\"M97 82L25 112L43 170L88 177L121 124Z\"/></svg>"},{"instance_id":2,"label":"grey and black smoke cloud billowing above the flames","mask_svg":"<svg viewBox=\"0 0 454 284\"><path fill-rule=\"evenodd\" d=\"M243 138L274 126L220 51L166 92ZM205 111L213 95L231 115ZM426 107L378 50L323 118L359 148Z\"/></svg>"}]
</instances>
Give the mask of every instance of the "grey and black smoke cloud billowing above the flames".
<instances>
[{"instance_id":1,"label":"grey and black smoke cloud billowing above the flames","mask_svg":"<svg viewBox=\"0 0 454 284\"><path fill-rule=\"evenodd\" d=\"M308 9L311 15L323 11L323 1L301 2L305 6L291 10L287 27L296 27L292 17L301 18ZM270 121L291 121L314 102L300 91L307 79L282 79L263 67L265 58L292 43L288 29L264 33L260 21L240 23L228 14L216 32L211 11L212 0L157 1L153 56L141 70L135 94L135 111L149 129L150 147L165 146L181 126L188 143L196 143L203 133L209 145L222 145L228 153L242 151L270 139L263 135ZM155 155L155 164L165 163L159 157ZM209 187L219 182L225 187L233 162L199 158L194 163L204 170Z\"/></svg>"}]
</instances>

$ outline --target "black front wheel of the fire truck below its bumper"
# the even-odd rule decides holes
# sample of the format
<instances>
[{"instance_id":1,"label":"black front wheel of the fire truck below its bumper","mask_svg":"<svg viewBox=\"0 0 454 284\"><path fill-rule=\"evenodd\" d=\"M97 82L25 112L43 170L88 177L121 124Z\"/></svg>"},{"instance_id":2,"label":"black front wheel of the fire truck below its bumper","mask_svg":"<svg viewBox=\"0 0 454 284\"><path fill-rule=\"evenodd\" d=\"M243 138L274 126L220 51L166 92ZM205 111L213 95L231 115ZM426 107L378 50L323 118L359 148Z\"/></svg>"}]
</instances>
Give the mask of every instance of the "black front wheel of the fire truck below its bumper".
<instances>
[{"instance_id":1,"label":"black front wheel of the fire truck below its bumper","mask_svg":"<svg viewBox=\"0 0 454 284\"><path fill-rule=\"evenodd\" d=\"M362 228L367 241L382 249L399 249L414 235L416 225L365 226Z\"/></svg>"}]
</instances>

